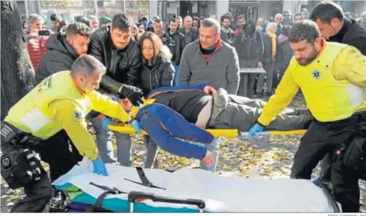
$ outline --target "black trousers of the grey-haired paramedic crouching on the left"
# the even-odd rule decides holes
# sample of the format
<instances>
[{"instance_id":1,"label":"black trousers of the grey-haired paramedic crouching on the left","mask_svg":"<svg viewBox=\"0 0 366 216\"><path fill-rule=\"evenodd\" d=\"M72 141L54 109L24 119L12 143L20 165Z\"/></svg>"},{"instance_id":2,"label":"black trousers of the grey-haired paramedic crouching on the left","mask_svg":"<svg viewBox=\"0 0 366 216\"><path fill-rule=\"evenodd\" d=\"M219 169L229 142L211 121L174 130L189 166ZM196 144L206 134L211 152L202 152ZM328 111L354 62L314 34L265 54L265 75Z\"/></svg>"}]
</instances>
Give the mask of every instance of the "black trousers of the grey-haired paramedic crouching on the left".
<instances>
[{"instance_id":1,"label":"black trousers of the grey-haired paramedic crouching on the left","mask_svg":"<svg viewBox=\"0 0 366 216\"><path fill-rule=\"evenodd\" d=\"M41 142L34 147L41 156L41 160L50 166L50 179L56 180L61 175L66 174L82 159L73 144L69 142L69 136L64 130L53 135L48 140ZM72 149L72 151L71 151ZM1 144L3 154L13 151L9 144ZM42 169L41 180L31 182L24 186L26 196L17 201L10 212L42 212L52 196L52 186L47 172Z\"/></svg>"}]
</instances>

